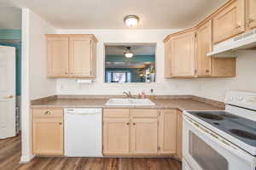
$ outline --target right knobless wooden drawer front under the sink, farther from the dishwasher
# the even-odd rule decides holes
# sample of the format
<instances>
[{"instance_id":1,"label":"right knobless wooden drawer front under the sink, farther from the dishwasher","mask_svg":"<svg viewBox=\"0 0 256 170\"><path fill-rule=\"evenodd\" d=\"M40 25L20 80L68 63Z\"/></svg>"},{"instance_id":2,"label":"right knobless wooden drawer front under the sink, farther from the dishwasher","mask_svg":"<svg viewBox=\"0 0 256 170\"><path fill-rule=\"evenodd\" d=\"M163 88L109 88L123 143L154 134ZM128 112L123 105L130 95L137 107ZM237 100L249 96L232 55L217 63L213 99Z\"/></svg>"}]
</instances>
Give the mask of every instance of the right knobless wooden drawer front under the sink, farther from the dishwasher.
<instances>
[{"instance_id":1,"label":"right knobless wooden drawer front under the sink, farther from the dishwasher","mask_svg":"<svg viewBox=\"0 0 256 170\"><path fill-rule=\"evenodd\" d=\"M157 117L158 110L156 109L134 109L131 110L132 117Z\"/></svg>"}]
</instances>

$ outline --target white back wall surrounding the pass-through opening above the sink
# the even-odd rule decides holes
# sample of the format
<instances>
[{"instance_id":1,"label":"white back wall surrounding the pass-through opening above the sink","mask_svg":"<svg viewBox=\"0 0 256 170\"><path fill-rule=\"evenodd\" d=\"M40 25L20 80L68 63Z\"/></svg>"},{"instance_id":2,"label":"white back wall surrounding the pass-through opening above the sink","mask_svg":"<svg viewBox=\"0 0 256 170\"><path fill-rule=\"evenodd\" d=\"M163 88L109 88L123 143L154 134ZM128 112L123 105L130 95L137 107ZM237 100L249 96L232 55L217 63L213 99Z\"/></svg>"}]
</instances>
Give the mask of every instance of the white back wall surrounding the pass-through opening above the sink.
<instances>
[{"instance_id":1,"label":"white back wall surrounding the pass-through opening above the sink","mask_svg":"<svg viewBox=\"0 0 256 170\"><path fill-rule=\"evenodd\" d=\"M60 34L94 34L97 43L96 82L79 85L76 80L58 79L57 94L122 94L129 90L132 94L149 92L154 88L155 94L191 94L192 82L186 79L164 79L165 49L163 39L177 30L58 30ZM104 43L107 42L156 42L156 83L104 83Z\"/></svg>"}]
</instances>

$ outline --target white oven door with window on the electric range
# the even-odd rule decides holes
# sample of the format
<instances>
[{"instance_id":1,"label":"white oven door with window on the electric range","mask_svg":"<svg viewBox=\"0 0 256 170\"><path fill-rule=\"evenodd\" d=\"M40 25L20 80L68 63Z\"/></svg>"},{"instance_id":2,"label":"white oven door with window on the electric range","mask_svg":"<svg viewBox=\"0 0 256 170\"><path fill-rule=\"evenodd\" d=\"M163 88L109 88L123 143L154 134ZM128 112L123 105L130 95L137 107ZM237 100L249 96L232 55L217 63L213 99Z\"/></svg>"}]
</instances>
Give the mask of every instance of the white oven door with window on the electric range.
<instances>
[{"instance_id":1,"label":"white oven door with window on the electric range","mask_svg":"<svg viewBox=\"0 0 256 170\"><path fill-rule=\"evenodd\" d=\"M255 170L255 157L183 116L183 159L192 170Z\"/></svg>"}]
</instances>

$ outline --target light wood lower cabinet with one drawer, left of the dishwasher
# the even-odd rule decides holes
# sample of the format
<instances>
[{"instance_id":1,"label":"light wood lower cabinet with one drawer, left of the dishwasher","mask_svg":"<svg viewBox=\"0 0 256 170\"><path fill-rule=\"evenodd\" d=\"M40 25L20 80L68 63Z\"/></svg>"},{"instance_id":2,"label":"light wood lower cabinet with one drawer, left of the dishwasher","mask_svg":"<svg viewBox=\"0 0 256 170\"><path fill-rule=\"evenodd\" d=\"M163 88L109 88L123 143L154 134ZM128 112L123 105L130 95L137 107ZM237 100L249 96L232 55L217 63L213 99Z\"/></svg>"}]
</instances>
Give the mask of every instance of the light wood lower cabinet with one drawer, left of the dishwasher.
<instances>
[{"instance_id":1,"label":"light wood lower cabinet with one drawer, left of the dishwasher","mask_svg":"<svg viewBox=\"0 0 256 170\"><path fill-rule=\"evenodd\" d=\"M63 156L63 113L61 109L32 110L32 152L34 155Z\"/></svg>"}]
</instances>

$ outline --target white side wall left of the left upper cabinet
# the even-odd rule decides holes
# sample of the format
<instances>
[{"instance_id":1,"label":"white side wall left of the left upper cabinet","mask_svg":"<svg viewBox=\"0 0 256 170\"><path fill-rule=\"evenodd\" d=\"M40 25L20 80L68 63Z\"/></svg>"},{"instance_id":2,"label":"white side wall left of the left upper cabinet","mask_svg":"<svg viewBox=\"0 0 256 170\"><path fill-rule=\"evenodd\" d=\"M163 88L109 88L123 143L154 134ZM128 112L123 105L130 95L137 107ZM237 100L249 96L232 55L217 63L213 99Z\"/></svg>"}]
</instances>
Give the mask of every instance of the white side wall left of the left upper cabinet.
<instances>
[{"instance_id":1,"label":"white side wall left of the left upper cabinet","mask_svg":"<svg viewBox=\"0 0 256 170\"><path fill-rule=\"evenodd\" d=\"M50 26L37 14L30 12L29 20L29 62L30 98L38 99L55 94L55 79L47 77L47 43L45 34L54 34Z\"/></svg>"}]
</instances>

